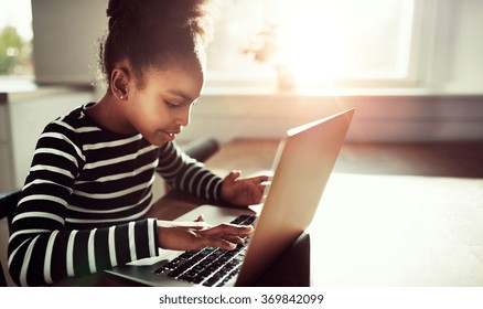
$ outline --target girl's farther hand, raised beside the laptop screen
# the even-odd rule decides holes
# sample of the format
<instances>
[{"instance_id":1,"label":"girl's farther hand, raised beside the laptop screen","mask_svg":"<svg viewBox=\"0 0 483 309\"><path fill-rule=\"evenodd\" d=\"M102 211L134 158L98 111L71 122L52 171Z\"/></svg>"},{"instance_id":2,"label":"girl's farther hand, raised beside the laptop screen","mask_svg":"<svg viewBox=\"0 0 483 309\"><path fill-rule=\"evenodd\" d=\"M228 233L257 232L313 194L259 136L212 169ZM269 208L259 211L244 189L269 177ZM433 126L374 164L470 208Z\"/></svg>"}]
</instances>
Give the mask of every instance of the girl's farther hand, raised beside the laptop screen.
<instances>
[{"instance_id":1,"label":"girl's farther hand, raised beside the laptop screen","mask_svg":"<svg viewBox=\"0 0 483 309\"><path fill-rule=\"evenodd\" d=\"M232 171L223 180L222 199L234 205L260 203L266 187L264 182L268 181L268 177L238 179L240 174L239 171Z\"/></svg>"}]
</instances>

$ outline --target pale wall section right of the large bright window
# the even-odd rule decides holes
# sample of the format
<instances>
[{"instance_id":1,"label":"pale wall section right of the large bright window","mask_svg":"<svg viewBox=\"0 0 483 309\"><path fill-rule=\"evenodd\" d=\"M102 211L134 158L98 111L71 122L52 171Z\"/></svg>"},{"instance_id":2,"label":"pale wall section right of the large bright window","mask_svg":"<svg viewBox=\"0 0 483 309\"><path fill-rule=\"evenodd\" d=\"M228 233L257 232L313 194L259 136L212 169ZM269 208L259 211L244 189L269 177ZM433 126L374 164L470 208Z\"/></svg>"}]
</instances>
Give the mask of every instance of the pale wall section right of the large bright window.
<instances>
[{"instance_id":1,"label":"pale wall section right of the large bright window","mask_svg":"<svg viewBox=\"0 0 483 309\"><path fill-rule=\"evenodd\" d=\"M483 94L483 1L425 2L437 3L434 38L421 38L433 40L425 86L437 94Z\"/></svg>"}]
</instances>

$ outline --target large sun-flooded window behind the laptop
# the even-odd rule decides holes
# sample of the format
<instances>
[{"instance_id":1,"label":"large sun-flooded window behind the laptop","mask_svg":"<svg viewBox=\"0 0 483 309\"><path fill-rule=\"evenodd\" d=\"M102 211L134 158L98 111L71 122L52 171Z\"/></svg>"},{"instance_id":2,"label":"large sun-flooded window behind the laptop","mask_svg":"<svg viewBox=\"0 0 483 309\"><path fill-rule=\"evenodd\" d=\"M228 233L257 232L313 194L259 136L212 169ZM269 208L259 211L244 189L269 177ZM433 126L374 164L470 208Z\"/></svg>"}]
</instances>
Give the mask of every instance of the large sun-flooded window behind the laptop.
<instances>
[{"instance_id":1,"label":"large sun-flooded window behind the laptop","mask_svg":"<svg viewBox=\"0 0 483 309\"><path fill-rule=\"evenodd\" d=\"M384 86L411 76L416 0L223 0L208 83Z\"/></svg>"}]
</instances>

